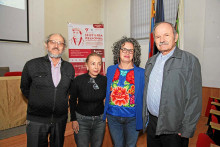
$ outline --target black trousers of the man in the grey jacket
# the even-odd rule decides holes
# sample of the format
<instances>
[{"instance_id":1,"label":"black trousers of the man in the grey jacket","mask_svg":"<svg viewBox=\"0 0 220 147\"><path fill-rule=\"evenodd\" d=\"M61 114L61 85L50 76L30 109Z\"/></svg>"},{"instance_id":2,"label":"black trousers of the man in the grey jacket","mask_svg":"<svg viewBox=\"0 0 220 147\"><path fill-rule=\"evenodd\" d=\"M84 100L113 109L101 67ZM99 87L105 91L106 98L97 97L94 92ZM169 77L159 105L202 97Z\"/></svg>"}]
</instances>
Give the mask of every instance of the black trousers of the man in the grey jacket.
<instances>
[{"instance_id":1,"label":"black trousers of the man in the grey jacket","mask_svg":"<svg viewBox=\"0 0 220 147\"><path fill-rule=\"evenodd\" d=\"M150 114L147 126L147 147L188 147L189 139L178 134L155 135L157 117Z\"/></svg>"}]
</instances>

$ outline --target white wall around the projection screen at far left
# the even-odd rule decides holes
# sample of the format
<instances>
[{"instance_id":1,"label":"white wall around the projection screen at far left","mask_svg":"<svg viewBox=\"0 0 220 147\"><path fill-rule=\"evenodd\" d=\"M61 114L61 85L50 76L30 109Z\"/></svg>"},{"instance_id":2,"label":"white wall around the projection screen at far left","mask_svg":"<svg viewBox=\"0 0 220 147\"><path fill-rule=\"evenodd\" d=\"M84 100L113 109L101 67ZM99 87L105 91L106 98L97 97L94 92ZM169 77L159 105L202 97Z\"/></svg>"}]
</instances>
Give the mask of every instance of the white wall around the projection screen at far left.
<instances>
[{"instance_id":1,"label":"white wall around the projection screen at far left","mask_svg":"<svg viewBox=\"0 0 220 147\"><path fill-rule=\"evenodd\" d=\"M0 42L0 67L21 71L26 61L44 55L44 0L29 1L30 43Z\"/></svg>"}]
</instances>

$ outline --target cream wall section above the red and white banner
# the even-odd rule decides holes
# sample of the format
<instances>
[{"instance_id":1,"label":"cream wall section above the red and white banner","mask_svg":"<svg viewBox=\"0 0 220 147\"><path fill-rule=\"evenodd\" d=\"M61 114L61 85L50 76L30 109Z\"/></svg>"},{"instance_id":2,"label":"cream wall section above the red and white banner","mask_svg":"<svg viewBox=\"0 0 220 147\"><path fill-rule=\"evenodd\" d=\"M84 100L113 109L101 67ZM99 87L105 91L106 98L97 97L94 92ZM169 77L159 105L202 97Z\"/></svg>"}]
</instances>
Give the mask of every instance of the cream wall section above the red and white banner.
<instances>
[{"instance_id":1,"label":"cream wall section above the red and white banner","mask_svg":"<svg viewBox=\"0 0 220 147\"><path fill-rule=\"evenodd\" d=\"M45 37L61 33L68 40L67 24L102 23L103 0L45 0ZM63 59L68 61L68 47Z\"/></svg>"}]
</instances>

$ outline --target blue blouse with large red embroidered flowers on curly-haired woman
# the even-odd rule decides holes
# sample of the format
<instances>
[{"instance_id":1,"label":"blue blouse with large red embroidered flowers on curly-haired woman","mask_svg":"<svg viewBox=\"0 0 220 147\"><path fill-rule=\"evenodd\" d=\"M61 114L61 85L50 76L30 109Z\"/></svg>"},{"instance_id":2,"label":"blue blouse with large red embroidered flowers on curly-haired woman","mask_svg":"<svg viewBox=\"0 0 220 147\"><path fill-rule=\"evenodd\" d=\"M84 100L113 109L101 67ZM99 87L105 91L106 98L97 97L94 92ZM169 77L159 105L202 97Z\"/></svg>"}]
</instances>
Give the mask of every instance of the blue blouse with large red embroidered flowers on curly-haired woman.
<instances>
[{"instance_id":1,"label":"blue blouse with large red embroidered flowers on curly-haired woman","mask_svg":"<svg viewBox=\"0 0 220 147\"><path fill-rule=\"evenodd\" d=\"M108 114L121 117L135 116L134 84L134 69L116 69L110 89Z\"/></svg>"}]
</instances>

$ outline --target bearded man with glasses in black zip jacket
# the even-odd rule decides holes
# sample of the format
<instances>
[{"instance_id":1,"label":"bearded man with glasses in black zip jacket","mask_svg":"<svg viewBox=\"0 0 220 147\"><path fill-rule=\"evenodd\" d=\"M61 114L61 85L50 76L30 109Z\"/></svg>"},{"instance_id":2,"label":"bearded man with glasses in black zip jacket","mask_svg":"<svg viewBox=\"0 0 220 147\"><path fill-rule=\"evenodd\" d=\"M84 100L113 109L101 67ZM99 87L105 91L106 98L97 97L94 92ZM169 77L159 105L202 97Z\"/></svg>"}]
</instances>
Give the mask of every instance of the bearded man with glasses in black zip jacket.
<instances>
[{"instance_id":1,"label":"bearded man with glasses in black zip jacket","mask_svg":"<svg viewBox=\"0 0 220 147\"><path fill-rule=\"evenodd\" d=\"M68 114L73 66L62 60L66 47L61 34L51 34L45 41L48 55L28 61L21 77L21 91L28 99L27 146L61 147Z\"/></svg>"}]
</instances>

